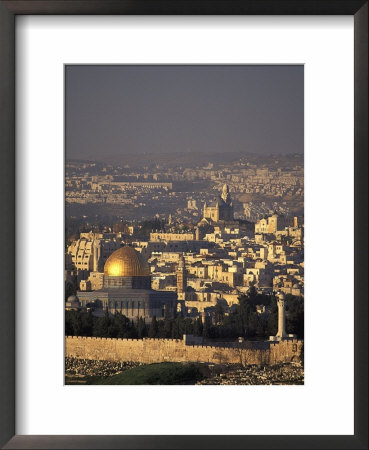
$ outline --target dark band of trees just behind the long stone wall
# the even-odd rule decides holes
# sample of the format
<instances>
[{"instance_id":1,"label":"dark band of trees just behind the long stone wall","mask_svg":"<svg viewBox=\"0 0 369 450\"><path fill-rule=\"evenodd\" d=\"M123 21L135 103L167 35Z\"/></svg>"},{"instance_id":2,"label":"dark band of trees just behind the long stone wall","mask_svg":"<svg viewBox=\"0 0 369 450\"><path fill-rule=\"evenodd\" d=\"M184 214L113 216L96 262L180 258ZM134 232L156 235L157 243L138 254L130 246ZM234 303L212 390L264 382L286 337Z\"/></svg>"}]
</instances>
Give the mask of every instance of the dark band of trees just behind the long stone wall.
<instances>
[{"instance_id":1,"label":"dark band of trees just behind the long stone wall","mask_svg":"<svg viewBox=\"0 0 369 450\"><path fill-rule=\"evenodd\" d=\"M256 312L256 305L265 305L267 313ZM215 306L213 319L190 318L177 314L146 324L144 319L128 319L121 313L95 317L92 312L65 312L66 336L95 336L137 339L143 337L182 339L183 334L202 336L205 339L268 339L278 327L278 307L274 295L257 294L254 289L239 297L229 314L225 314L220 303ZM286 295L286 331L304 338L304 300L302 297Z\"/></svg>"}]
</instances>

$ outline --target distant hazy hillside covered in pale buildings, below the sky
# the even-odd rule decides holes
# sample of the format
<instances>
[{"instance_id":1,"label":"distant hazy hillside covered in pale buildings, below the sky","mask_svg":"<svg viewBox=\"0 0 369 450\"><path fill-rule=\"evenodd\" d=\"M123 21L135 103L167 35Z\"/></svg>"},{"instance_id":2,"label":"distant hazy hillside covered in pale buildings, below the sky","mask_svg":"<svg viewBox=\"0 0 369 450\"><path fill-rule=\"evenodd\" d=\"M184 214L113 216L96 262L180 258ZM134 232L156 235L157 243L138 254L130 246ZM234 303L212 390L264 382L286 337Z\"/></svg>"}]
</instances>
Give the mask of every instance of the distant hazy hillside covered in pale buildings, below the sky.
<instances>
[{"instance_id":1,"label":"distant hazy hillside covered in pale buildings, below the sky","mask_svg":"<svg viewBox=\"0 0 369 450\"><path fill-rule=\"evenodd\" d=\"M303 159L240 159L198 167L129 168L68 163L66 204L92 205L95 212L115 208L126 220L144 220L155 214L176 221L200 220L210 214L214 194L227 184L238 219L256 221L270 211L293 215L302 211ZM165 201L163 201L165 199Z\"/></svg>"}]
</instances>

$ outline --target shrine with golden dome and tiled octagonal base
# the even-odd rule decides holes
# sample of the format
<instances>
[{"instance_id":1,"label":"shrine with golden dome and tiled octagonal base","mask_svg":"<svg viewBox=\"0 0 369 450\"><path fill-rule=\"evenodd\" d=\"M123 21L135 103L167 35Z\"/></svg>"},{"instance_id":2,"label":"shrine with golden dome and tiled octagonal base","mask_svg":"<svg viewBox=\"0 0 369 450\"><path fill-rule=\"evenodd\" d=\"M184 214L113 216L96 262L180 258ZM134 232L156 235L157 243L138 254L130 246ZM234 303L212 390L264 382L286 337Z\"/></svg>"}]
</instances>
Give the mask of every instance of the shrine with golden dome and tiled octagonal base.
<instances>
[{"instance_id":1,"label":"shrine with golden dome and tiled octagonal base","mask_svg":"<svg viewBox=\"0 0 369 450\"><path fill-rule=\"evenodd\" d=\"M93 305L111 314L120 312L131 320L140 317L150 323L165 315L172 317L177 308L175 292L151 289L151 275L144 257L133 247L121 247L113 252L104 266L103 288L78 291L82 307Z\"/></svg>"}]
</instances>

